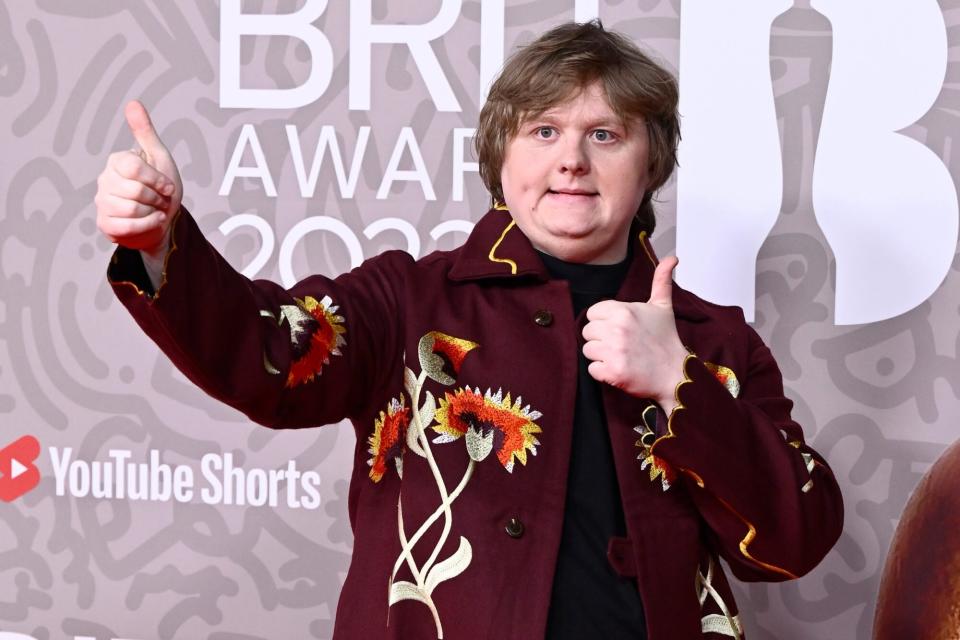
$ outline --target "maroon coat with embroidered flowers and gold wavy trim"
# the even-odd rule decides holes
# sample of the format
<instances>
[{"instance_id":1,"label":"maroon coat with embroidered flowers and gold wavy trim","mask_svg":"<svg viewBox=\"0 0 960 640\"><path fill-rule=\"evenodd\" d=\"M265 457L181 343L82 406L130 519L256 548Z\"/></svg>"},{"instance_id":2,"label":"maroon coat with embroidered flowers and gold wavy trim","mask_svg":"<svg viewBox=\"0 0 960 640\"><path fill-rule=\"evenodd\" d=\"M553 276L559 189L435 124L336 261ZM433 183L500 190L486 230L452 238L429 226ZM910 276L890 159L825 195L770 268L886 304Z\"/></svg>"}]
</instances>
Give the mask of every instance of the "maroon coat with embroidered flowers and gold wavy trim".
<instances>
[{"instance_id":1,"label":"maroon coat with embroidered flowers and gold wavy trim","mask_svg":"<svg viewBox=\"0 0 960 640\"><path fill-rule=\"evenodd\" d=\"M156 296L135 252L114 256L119 298L209 394L274 428L351 419L338 639L544 635L583 318L511 222L494 210L459 249L390 251L289 291L238 275L186 212ZM656 258L642 234L633 252L617 299L645 301ZM730 637L717 557L744 580L803 575L839 536L843 505L741 310L673 295L695 355L669 421L603 389L628 530L609 561L636 577L652 640Z\"/></svg>"}]
</instances>

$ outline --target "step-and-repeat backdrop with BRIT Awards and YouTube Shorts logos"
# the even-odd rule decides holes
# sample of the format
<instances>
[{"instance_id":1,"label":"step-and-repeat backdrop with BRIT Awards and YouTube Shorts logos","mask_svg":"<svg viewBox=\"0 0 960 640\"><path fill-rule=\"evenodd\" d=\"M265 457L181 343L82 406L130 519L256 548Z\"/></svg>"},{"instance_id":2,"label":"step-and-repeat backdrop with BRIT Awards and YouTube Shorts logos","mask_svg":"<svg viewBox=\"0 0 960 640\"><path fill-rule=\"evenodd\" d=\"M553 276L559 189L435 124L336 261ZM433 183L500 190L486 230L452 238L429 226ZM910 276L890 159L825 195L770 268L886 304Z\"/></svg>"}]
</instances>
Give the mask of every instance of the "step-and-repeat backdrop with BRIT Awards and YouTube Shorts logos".
<instances>
[{"instance_id":1,"label":"step-and-repeat backdrop with BRIT Awards and YouTube Shorts logos","mask_svg":"<svg viewBox=\"0 0 960 640\"><path fill-rule=\"evenodd\" d=\"M251 424L107 286L93 195L124 103L231 264L289 285L461 243L486 87L594 17L680 78L658 252L744 308L845 495L815 571L734 585L746 633L871 637L907 499L960 434L958 0L0 3L0 638L329 638L350 563L351 427Z\"/></svg>"}]
</instances>

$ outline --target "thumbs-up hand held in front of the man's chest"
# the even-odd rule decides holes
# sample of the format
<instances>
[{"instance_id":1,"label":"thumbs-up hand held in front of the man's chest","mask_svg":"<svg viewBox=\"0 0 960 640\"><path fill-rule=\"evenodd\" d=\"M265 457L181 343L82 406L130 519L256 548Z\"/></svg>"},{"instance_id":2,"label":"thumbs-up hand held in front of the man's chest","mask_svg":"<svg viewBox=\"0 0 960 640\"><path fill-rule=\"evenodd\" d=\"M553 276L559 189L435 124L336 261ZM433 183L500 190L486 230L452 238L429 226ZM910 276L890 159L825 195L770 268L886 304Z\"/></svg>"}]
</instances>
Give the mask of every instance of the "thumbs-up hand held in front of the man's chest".
<instances>
[{"instance_id":1,"label":"thumbs-up hand held in front of the man's chest","mask_svg":"<svg viewBox=\"0 0 960 640\"><path fill-rule=\"evenodd\" d=\"M675 257L664 258L653 274L647 302L604 300L587 309L583 355L590 375L631 395L650 398L669 413L683 380L687 350L673 317Z\"/></svg>"}]
</instances>

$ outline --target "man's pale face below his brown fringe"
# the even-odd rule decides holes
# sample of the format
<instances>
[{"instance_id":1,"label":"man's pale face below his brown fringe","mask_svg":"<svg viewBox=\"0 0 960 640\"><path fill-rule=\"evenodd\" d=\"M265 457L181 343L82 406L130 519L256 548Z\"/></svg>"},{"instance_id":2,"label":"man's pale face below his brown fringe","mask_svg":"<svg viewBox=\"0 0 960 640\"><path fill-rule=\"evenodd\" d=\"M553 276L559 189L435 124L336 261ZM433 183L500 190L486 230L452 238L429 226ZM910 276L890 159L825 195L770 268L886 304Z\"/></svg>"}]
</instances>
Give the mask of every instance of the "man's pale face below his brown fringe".
<instances>
[{"instance_id":1,"label":"man's pale face below his brown fringe","mask_svg":"<svg viewBox=\"0 0 960 640\"><path fill-rule=\"evenodd\" d=\"M568 262L613 264L627 254L649 183L648 156L643 122L622 122L593 83L521 123L500 172L504 200L537 249Z\"/></svg>"}]
</instances>

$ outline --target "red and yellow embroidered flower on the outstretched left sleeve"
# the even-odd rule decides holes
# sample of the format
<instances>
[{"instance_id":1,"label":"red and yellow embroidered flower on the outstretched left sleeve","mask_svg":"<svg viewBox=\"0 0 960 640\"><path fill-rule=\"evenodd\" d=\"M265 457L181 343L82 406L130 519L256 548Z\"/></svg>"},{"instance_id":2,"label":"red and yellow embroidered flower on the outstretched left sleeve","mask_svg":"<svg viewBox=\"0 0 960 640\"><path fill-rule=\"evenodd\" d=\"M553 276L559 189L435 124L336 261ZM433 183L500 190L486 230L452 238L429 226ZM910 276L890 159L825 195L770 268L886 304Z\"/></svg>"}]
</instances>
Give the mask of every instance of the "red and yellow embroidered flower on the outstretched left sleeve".
<instances>
[{"instance_id":1,"label":"red and yellow embroidered flower on the outstretched left sleeve","mask_svg":"<svg viewBox=\"0 0 960 640\"><path fill-rule=\"evenodd\" d=\"M275 320L278 325L282 326L286 320L290 326L293 361L287 374L287 388L306 384L320 375L323 365L330 364L330 356L341 355L340 347L346 344L344 319L336 314L338 307L334 306L330 296L324 296L320 301L311 296L303 300L294 298L294 301L296 304L280 305L279 317L270 311L260 311L261 316ZM271 374L280 373L266 354L263 366Z\"/></svg>"}]
</instances>

